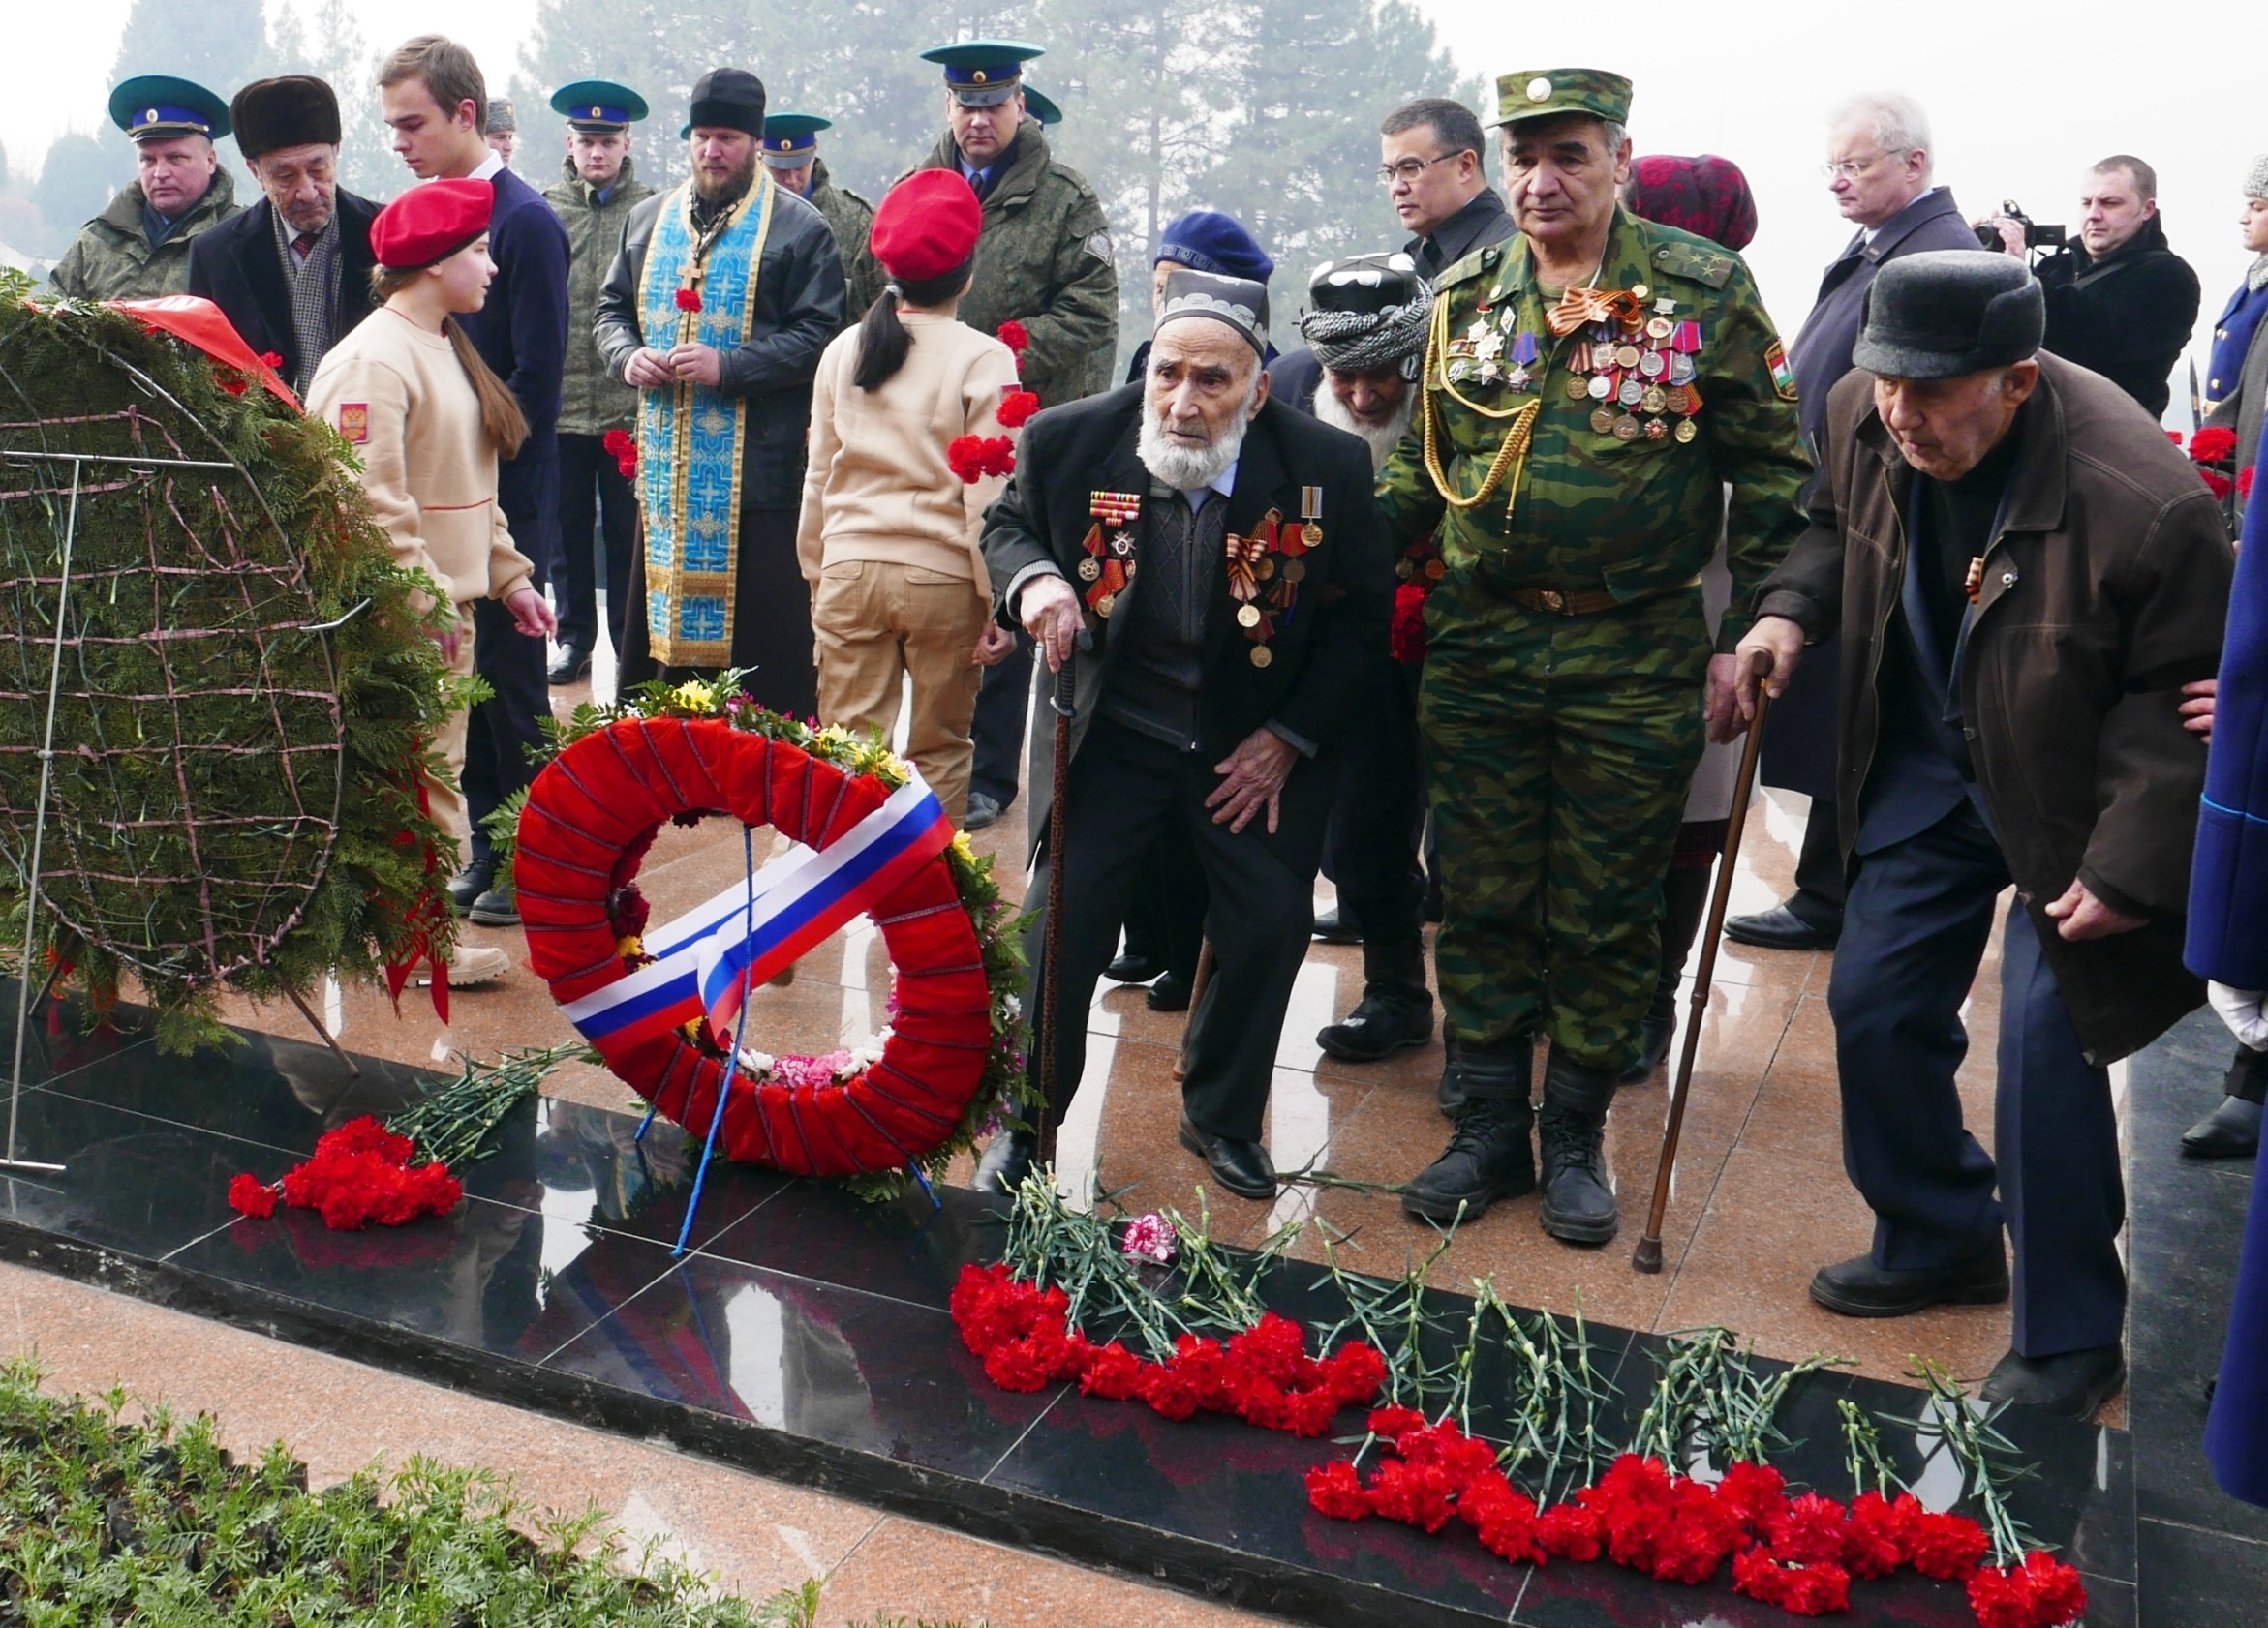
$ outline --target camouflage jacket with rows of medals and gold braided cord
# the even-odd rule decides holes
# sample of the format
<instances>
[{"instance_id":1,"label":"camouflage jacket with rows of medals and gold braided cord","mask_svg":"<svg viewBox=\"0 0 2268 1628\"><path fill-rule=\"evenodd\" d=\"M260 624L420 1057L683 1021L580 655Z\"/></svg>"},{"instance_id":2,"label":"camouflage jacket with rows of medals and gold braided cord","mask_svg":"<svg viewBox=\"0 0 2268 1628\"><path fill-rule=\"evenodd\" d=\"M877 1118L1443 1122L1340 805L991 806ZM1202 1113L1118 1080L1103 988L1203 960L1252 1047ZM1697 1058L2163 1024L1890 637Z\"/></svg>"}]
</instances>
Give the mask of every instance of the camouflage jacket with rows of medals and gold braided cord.
<instances>
[{"instance_id":1,"label":"camouflage jacket with rows of medals and gold braided cord","mask_svg":"<svg viewBox=\"0 0 2268 1628\"><path fill-rule=\"evenodd\" d=\"M1624 292L1637 327L1565 338L1545 322L1558 297L1538 288L1526 238L1467 254L1436 290L1422 417L1379 472L1399 540L1436 531L1449 580L1628 601L1696 578L1721 533L1730 651L1803 531L1812 472L1794 374L1740 256L1617 209L1597 290ZM1526 458L1486 501L1445 501L1424 431L1447 490L1470 499L1524 404L1540 404Z\"/></svg>"}]
</instances>

